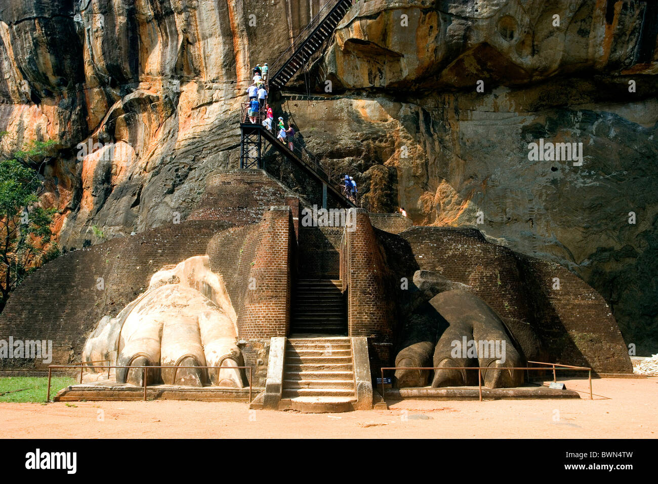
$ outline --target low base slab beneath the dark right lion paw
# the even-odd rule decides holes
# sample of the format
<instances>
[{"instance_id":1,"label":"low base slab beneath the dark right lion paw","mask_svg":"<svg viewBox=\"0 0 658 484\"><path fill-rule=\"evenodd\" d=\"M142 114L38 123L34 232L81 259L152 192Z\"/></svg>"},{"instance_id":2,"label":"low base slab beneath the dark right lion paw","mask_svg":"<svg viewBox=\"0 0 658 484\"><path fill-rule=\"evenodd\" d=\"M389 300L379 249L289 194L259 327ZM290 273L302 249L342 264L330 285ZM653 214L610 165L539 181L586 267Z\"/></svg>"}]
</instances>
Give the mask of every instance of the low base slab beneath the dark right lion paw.
<instances>
[{"instance_id":1,"label":"low base slab beneath the dark right lion paw","mask_svg":"<svg viewBox=\"0 0 658 484\"><path fill-rule=\"evenodd\" d=\"M533 398L580 398L574 390L554 390L548 387L515 387L488 389L482 387L482 400L528 400ZM386 400L479 400L478 387L445 387L434 389L387 389Z\"/></svg>"}]
</instances>

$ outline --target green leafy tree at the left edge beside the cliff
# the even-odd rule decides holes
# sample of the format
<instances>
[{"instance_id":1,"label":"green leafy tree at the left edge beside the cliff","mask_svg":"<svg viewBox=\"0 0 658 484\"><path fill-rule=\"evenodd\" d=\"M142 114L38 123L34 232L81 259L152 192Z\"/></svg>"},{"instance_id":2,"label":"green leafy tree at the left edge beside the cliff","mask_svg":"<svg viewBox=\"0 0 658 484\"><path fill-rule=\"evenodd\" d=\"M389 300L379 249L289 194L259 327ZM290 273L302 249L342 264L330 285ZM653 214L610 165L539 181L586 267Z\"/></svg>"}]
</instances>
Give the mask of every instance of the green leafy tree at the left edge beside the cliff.
<instances>
[{"instance_id":1,"label":"green leafy tree at the left edge beside the cliff","mask_svg":"<svg viewBox=\"0 0 658 484\"><path fill-rule=\"evenodd\" d=\"M6 133L0 133L0 138ZM32 142L0 161L0 311L26 275L59 255L51 242L56 209L39 206L39 167L55 142Z\"/></svg>"}]
</instances>

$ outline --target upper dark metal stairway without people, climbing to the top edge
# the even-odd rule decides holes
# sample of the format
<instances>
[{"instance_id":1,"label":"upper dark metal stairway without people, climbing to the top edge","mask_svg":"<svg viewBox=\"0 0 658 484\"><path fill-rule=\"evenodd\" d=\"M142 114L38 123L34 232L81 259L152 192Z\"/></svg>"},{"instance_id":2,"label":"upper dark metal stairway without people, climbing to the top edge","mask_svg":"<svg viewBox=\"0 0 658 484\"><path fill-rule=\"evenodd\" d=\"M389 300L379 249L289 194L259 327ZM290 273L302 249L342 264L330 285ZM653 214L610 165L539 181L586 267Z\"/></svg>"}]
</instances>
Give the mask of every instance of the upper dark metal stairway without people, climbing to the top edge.
<instances>
[{"instance_id":1,"label":"upper dark metal stairway without people, climbing to the top edge","mask_svg":"<svg viewBox=\"0 0 658 484\"><path fill-rule=\"evenodd\" d=\"M332 0L322 7L292 45L272 63L270 72L274 72L274 75L270 76L270 86L278 89L285 86L295 72L306 65L311 56L320 50L322 43L334 34L336 26L352 5L353 0Z\"/></svg>"}]
</instances>

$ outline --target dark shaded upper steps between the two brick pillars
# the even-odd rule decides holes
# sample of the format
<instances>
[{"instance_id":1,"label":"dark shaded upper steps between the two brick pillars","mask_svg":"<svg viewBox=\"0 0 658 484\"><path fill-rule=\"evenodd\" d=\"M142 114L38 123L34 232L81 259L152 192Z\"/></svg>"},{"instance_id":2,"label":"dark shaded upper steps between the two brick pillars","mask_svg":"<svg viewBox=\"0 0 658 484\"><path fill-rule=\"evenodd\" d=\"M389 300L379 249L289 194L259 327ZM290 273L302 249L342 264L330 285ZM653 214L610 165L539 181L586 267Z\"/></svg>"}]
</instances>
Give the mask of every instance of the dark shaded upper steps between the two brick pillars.
<instances>
[{"instance_id":1,"label":"dark shaded upper steps between the two brick pillars","mask_svg":"<svg viewBox=\"0 0 658 484\"><path fill-rule=\"evenodd\" d=\"M293 293L292 335L347 335L340 280L299 279Z\"/></svg>"}]
</instances>

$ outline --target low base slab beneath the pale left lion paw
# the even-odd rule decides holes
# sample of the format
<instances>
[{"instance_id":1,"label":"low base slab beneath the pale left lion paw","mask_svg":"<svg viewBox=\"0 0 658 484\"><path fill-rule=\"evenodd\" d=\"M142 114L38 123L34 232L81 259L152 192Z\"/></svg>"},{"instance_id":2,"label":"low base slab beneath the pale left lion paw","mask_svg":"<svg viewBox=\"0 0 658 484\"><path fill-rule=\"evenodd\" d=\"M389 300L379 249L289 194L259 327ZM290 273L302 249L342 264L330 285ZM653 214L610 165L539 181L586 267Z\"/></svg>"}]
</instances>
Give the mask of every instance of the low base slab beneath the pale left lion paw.
<instances>
[{"instance_id":1,"label":"low base slab beneath the pale left lion paw","mask_svg":"<svg viewBox=\"0 0 658 484\"><path fill-rule=\"evenodd\" d=\"M252 389L252 397L262 389ZM147 400L199 400L201 402L249 401L249 387L230 389L221 387L183 387L181 385L152 385L146 389ZM59 390L55 402L80 400L143 400L144 388L113 380L72 385Z\"/></svg>"}]
</instances>

